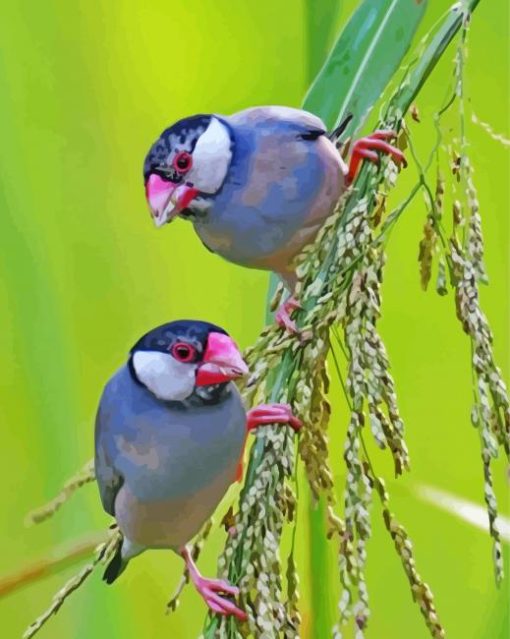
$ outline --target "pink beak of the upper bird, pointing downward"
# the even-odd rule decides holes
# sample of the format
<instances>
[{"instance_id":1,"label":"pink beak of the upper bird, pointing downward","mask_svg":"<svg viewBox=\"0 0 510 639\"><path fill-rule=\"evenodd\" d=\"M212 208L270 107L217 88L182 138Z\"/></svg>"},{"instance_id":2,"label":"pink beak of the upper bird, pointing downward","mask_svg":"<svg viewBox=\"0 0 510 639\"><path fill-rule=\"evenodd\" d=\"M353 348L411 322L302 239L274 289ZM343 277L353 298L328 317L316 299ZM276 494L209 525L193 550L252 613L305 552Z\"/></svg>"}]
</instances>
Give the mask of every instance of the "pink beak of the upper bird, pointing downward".
<instances>
[{"instance_id":1,"label":"pink beak of the upper bird, pointing downward","mask_svg":"<svg viewBox=\"0 0 510 639\"><path fill-rule=\"evenodd\" d=\"M188 184L168 182L151 173L145 183L145 197L156 226L171 222L198 195L198 189Z\"/></svg>"}]
</instances>

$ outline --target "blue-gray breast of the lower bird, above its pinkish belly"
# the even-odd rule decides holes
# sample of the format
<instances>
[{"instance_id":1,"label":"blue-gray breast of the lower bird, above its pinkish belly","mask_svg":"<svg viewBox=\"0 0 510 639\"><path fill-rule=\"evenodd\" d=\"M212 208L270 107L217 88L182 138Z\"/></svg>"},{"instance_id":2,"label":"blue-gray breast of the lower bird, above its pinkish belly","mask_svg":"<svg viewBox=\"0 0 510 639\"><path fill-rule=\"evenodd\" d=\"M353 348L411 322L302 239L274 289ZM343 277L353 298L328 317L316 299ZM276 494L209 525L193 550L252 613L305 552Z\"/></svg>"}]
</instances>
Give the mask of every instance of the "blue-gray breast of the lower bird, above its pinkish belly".
<instances>
[{"instance_id":1,"label":"blue-gray breast of the lower bird, above its pinkish belly","mask_svg":"<svg viewBox=\"0 0 510 639\"><path fill-rule=\"evenodd\" d=\"M185 498L235 469L246 413L233 384L216 405L179 407L135 384L127 369L116 382L120 398L108 425L113 463L138 500Z\"/></svg>"}]
</instances>

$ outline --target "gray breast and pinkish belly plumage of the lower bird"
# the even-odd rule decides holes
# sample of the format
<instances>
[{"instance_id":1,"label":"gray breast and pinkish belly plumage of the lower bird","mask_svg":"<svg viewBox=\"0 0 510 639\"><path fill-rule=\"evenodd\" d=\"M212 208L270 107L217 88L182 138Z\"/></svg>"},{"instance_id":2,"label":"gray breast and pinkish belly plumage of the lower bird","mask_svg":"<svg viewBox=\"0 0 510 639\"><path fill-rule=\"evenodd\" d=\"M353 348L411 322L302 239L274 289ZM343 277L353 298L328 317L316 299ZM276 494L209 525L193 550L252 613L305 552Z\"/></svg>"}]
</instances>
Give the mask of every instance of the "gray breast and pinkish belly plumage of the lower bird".
<instances>
[{"instance_id":1,"label":"gray breast and pinkish belly plumage of the lower bird","mask_svg":"<svg viewBox=\"0 0 510 639\"><path fill-rule=\"evenodd\" d=\"M112 377L96 419L96 475L137 552L178 549L200 530L235 479L245 426L232 383L212 403L199 394L164 402L127 365Z\"/></svg>"}]
</instances>

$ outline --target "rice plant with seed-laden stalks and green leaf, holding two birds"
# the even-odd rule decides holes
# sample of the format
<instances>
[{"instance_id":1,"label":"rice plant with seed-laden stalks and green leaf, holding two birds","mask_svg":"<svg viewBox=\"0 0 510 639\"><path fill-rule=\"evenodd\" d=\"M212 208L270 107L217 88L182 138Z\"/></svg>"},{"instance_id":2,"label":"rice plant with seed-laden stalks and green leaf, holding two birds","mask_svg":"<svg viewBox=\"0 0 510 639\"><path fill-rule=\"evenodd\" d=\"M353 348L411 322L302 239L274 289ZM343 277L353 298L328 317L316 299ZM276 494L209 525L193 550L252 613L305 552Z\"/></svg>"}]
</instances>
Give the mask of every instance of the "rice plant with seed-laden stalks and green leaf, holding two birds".
<instances>
[{"instance_id":1,"label":"rice plant with seed-laden stalks and green leaf, holding two birds","mask_svg":"<svg viewBox=\"0 0 510 639\"><path fill-rule=\"evenodd\" d=\"M492 465L501 452L507 457L510 454L510 409L493 353L491 329L480 304L479 286L487 283L487 273L474 160L465 133L468 34L471 28L476 29L476 19L471 25L471 14L478 3L466 0L452 5L409 55L427 3L385 0L376 6L370 0L360 2L304 99L303 107L320 115L331 129L352 114L345 131L348 138L373 120L378 110L374 125L398 132L398 144L416 168L418 181L402 202L388 210L398 167L391 160L363 167L313 245L299 257L297 292L302 308L296 312L298 337L282 333L271 323L271 309L282 290L276 281L270 286L268 326L246 351L251 376L242 390L248 405L290 403L305 428L298 439L291 429L273 427L256 436L239 502L228 513L229 533L218 560L218 573L239 585L248 620L239 625L233 619L209 615L203 639L370 637L370 618L378 614L366 578L374 516L382 518L430 636L447 636L436 609L434 584L429 587L425 581L427 566L419 564L419 550L415 557L404 523L392 511L387 482L371 453L374 448L385 451L391 460L390 477L410 469L413 451L404 437L398 380L393 378L379 325L390 240L419 194L425 199L426 214L423 237L417 238L417 281L426 290L432 288L434 278L437 293L450 294L453 311L469 338L471 421L480 439L496 581L503 579ZM324 11L329 15L327 9ZM437 105L436 139L430 148L418 149L410 126L410 121L420 118L415 101L452 42L451 92ZM316 42L316 46L322 45L322 41ZM350 53L348 61L346 51ZM453 118L455 126L445 127L445 117ZM349 139L341 142L340 150L346 153ZM420 159L423 155L427 156L425 161ZM430 183L431 169L436 176L434 184ZM451 215L447 219L448 206ZM340 382L349 410L342 424L342 450L330 445L333 423L339 427L339 420L332 419L333 379ZM340 483L333 469L339 462L344 475ZM306 495L301 494L302 479L299 487L303 476ZM51 517L77 488L93 480L93 467L88 464L31 519L39 522ZM331 566L323 556L321 574L325 583L336 580L340 591L336 618L331 618L331 610L319 612L312 622L313 635L303 635L302 568L295 549L296 512L304 499L309 500L310 552L334 544L337 565ZM210 526L197 540L196 555L209 532ZM25 637L32 637L57 612L95 566L111 556L118 542L114 530L93 561L56 595ZM185 584L186 574L169 602L170 610L177 607ZM314 600L316 608L321 605Z\"/></svg>"}]
</instances>

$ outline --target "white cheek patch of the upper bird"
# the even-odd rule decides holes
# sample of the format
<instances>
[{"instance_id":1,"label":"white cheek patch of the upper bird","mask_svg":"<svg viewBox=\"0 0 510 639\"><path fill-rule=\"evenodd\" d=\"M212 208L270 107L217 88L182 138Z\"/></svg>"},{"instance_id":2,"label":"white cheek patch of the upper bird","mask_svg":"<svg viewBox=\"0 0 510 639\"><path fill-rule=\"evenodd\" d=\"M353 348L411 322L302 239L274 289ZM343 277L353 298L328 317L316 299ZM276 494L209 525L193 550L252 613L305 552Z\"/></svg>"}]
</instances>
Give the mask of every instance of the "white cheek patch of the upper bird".
<instances>
[{"instance_id":1,"label":"white cheek patch of the upper bird","mask_svg":"<svg viewBox=\"0 0 510 639\"><path fill-rule=\"evenodd\" d=\"M232 160L228 129L215 117L198 138L193 151L193 168L186 176L204 193L216 193L225 181Z\"/></svg>"}]
</instances>

